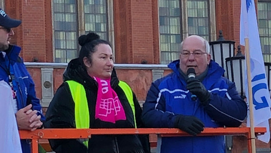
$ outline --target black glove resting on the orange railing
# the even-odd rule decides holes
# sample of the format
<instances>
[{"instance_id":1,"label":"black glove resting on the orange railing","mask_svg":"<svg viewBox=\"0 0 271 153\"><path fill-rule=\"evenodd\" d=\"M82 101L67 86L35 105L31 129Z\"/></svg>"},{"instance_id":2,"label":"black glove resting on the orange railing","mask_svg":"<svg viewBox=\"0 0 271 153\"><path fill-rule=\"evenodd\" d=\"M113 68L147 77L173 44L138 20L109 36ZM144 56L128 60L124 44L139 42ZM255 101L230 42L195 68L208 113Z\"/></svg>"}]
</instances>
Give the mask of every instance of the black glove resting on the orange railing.
<instances>
[{"instance_id":1,"label":"black glove resting on the orange railing","mask_svg":"<svg viewBox=\"0 0 271 153\"><path fill-rule=\"evenodd\" d=\"M203 131L204 124L194 116L177 115L175 127L195 136Z\"/></svg>"}]
</instances>

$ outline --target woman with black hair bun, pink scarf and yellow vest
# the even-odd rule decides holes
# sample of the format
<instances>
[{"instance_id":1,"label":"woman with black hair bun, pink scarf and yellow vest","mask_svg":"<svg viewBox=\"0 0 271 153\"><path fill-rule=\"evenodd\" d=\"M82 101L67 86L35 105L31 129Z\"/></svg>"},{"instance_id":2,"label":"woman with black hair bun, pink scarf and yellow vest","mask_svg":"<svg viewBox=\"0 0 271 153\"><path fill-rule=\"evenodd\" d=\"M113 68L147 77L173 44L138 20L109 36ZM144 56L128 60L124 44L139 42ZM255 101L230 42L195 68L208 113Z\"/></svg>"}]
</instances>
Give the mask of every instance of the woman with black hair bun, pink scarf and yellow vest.
<instances>
[{"instance_id":1,"label":"woman with black hair bun, pink scarf and yellow vest","mask_svg":"<svg viewBox=\"0 0 271 153\"><path fill-rule=\"evenodd\" d=\"M79 37L46 112L46 128L141 128L141 108L131 88L113 69L110 44L95 33ZM56 153L150 153L147 135L92 135L88 140L49 140Z\"/></svg>"}]
</instances>

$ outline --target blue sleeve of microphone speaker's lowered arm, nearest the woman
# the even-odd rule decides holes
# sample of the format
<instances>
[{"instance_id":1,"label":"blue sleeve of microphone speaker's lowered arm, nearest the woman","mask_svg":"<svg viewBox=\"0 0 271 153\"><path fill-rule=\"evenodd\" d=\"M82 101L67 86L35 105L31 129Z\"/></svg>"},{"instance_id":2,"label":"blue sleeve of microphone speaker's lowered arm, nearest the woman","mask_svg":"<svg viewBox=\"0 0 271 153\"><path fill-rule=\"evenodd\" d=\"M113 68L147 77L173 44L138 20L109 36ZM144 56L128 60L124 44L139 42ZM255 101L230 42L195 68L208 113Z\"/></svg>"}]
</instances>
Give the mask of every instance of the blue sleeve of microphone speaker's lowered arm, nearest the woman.
<instances>
[{"instance_id":1,"label":"blue sleeve of microphone speaker's lowered arm, nearest the woman","mask_svg":"<svg viewBox=\"0 0 271 153\"><path fill-rule=\"evenodd\" d=\"M152 83L143 104L142 121L149 128L174 128L175 115L166 112L163 95L158 88L162 79Z\"/></svg>"}]
</instances>

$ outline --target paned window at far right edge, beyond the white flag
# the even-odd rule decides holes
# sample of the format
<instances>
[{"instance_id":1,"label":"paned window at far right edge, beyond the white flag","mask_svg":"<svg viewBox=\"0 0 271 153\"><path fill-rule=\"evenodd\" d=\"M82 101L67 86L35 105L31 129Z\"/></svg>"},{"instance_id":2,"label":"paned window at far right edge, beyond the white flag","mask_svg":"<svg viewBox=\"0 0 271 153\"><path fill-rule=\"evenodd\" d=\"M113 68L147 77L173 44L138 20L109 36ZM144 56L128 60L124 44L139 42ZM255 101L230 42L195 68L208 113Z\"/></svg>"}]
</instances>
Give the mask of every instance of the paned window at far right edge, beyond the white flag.
<instances>
[{"instance_id":1,"label":"paned window at far right edge, beyond the white flag","mask_svg":"<svg viewBox=\"0 0 271 153\"><path fill-rule=\"evenodd\" d=\"M259 34L265 62L271 62L271 1L258 2Z\"/></svg>"}]
</instances>

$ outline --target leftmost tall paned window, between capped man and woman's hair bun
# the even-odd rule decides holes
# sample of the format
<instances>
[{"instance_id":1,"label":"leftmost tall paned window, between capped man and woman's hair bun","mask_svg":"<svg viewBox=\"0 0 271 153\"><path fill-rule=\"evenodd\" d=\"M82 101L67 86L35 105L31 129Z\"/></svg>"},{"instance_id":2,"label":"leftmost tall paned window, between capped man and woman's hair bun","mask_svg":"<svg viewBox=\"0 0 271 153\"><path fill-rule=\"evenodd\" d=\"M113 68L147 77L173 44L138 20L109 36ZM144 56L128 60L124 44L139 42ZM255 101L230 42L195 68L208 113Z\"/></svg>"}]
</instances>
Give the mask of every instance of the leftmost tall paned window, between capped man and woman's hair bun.
<instances>
[{"instance_id":1,"label":"leftmost tall paned window, between capped man and woman's hair bun","mask_svg":"<svg viewBox=\"0 0 271 153\"><path fill-rule=\"evenodd\" d=\"M77 57L76 0L54 0L55 61L66 63Z\"/></svg>"}]
</instances>

